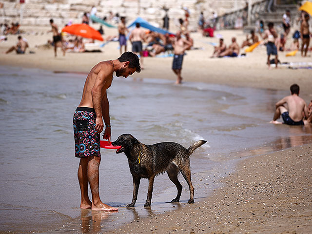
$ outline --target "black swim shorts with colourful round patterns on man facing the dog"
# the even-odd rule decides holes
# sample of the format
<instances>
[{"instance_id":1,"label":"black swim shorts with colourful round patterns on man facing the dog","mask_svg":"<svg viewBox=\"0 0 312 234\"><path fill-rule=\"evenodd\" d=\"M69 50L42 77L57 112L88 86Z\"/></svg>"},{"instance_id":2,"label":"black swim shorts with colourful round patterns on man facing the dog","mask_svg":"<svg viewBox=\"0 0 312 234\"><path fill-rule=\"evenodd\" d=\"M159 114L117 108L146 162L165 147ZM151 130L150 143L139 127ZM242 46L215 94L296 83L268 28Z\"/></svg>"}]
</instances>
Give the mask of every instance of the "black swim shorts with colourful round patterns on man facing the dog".
<instances>
[{"instance_id":1,"label":"black swim shorts with colourful round patterns on man facing the dog","mask_svg":"<svg viewBox=\"0 0 312 234\"><path fill-rule=\"evenodd\" d=\"M100 136L94 129L96 112L93 108L77 107L74 114L75 156L101 156Z\"/></svg>"}]
</instances>

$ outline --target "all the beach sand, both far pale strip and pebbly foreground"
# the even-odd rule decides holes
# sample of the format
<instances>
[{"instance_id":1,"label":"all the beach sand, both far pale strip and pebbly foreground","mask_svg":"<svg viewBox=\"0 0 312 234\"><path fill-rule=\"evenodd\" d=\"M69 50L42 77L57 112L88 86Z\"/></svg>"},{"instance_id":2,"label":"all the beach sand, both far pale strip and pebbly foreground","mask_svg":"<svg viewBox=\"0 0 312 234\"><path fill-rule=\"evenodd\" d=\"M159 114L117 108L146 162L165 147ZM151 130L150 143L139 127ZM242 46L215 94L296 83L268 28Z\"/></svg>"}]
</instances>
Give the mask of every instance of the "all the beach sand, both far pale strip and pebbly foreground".
<instances>
[{"instance_id":1,"label":"all the beach sand, both far pale strip and pebbly foreground","mask_svg":"<svg viewBox=\"0 0 312 234\"><path fill-rule=\"evenodd\" d=\"M58 49L58 57L54 58L52 48L40 47L52 39L52 34L46 33L50 27L23 27L23 30L25 33L22 36L30 44L28 52L35 53L3 54L17 42L17 35L9 35L8 41L0 43L0 65L87 74L99 61L119 57L118 42L109 42L101 48L102 53L67 53L63 57ZM106 35L117 34L116 29L105 32ZM239 44L246 37L242 30L216 33L222 35L227 45L233 36ZM292 83L297 83L300 96L306 101L312 99L312 70L289 69L288 66L268 70L264 45L243 58L210 59L213 46L208 42L217 43L218 38L203 38L199 33L192 33L191 37L195 41L194 46L200 49L188 51L185 56L182 70L184 82L285 91ZM294 57L286 57L286 53L279 53L281 62L312 61L311 52L308 52L307 58L302 58L299 52ZM172 58L144 58L144 70L133 77L174 82L176 76L171 65ZM220 188L208 197L196 199L195 204L172 204L179 209L138 218L107 233L312 233L312 144L259 154L249 156L248 152L244 152L244 158L237 160L230 175L219 181Z\"/></svg>"}]
</instances>

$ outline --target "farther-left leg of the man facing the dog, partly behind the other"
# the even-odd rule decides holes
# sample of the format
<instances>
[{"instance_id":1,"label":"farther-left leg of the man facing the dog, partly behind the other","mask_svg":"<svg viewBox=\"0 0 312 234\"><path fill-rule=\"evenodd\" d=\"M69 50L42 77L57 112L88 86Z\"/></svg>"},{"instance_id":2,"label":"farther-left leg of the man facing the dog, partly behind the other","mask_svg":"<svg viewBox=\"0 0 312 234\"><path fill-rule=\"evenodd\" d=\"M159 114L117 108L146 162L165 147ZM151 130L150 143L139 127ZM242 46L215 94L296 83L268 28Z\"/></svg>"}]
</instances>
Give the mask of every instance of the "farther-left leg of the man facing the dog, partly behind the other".
<instances>
[{"instance_id":1,"label":"farther-left leg of the man facing the dog, partly behind the other","mask_svg":"<svg viewBox=\"0 0 312 234\"><path fill-rule=\"evenodd\" d=\"M87 175L88 161L89 160L87 157L81 157L78 167L78 180L81 191L80 208L82 209L90 209L92 206L92 203L88 196L88 184L89 184Z\"/></svg>"}]
</instances>

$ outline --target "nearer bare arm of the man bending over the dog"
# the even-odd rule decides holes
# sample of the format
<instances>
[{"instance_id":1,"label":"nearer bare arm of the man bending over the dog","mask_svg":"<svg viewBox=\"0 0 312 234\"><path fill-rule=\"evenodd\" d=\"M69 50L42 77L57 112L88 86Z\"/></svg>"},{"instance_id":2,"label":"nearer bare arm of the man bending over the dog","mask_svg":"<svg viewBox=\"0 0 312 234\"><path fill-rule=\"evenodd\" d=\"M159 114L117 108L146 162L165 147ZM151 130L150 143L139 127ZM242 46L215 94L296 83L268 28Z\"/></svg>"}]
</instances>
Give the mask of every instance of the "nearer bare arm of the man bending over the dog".
<instances>
[{"instance_id":1,"label":"nearer bare arm of the man bending over the dog","mask_svg":"<svg viewBox=\"0 0 312 234\"><path fill-rule=\"evenodd\" d=\"M93 102L93 107L96 111L97 114L97 119L96 119L96 131L98 133L101 133L103 131L103 120L102 120L102 89L105 85L105 82L107 81L107 76L103 69L101 69L98 72L98 75L96 77L95 84L92 88L92 102Z\"/></svg>"}]
</instances>

